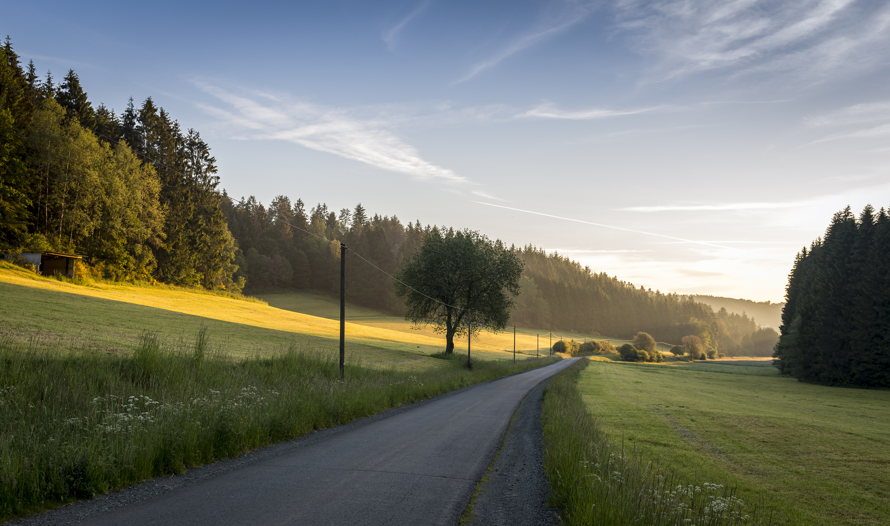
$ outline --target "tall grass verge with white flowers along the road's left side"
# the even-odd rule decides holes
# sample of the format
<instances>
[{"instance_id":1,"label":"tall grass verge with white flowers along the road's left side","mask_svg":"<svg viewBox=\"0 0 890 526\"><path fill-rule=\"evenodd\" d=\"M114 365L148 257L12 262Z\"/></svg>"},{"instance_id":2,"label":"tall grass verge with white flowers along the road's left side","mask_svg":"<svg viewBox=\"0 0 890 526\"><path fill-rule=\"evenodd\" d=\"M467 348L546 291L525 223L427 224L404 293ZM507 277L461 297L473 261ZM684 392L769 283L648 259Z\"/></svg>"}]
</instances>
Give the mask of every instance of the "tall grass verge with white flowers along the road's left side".
<instances>
[{"instance_id":1,"label":"tall grass verge with white flowers along the road's left side","mask_svg":"<svg viewBox=\"0 0 890 526\"><path fill-rule=\"evenodd\" d=\"M182 473L551 360L436 360L425 372L338 364L295 344L229 360L206 328L145 333L132 355L0 341L0 519Z\"/></svg>"}]
</instances>

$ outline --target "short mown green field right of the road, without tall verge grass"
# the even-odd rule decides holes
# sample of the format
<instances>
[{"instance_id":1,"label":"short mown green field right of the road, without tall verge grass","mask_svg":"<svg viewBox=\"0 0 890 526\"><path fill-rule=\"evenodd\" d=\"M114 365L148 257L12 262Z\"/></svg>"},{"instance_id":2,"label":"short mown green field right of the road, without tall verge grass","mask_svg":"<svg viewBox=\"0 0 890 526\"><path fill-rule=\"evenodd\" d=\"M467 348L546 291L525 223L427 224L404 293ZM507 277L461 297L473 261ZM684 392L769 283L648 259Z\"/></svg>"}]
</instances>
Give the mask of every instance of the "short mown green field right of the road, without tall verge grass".
<instances>
[{"instance_id":1,"label":"short mown green field right of the road, without tall verge grass","mask_svg":"<svg viewBox=\"0 0 890 526\"><path fill-rule=\"evenodd\" d=\"M735 485L746 501L765 490L781 524L890 523L890 391L748 363L590 360L578 391L612 440L695 484Z\"/></svg>"}]
</instances>

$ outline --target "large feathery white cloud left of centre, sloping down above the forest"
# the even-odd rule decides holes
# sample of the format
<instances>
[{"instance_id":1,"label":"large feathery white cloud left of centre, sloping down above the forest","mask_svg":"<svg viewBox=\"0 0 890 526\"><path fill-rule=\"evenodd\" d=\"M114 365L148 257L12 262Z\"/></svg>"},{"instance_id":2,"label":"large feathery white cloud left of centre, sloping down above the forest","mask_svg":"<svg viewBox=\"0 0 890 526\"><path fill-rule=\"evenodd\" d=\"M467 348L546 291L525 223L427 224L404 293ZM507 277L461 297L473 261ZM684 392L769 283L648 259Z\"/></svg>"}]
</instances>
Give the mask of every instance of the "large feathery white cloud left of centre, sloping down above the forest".
<instances>
[{"instance_id":1,"label":"large feathery white cloud left of centre, sloping down above the forest","mask_svg":"<svg viewBox=\"0 0 890 526\"><path fill-rule=\"evenodd\" d=\"M240 138L294 142L312 150L353 159L384 170L464 185L481 190L466 177L421 157L417 148L393 131L385 115L359 117L356 111L293 101L268 93L239 95L214 85L198 84L225 107L201 105L235 129ZM486 196L487 197L487 196Z\"/></svg>"}]
</instances>

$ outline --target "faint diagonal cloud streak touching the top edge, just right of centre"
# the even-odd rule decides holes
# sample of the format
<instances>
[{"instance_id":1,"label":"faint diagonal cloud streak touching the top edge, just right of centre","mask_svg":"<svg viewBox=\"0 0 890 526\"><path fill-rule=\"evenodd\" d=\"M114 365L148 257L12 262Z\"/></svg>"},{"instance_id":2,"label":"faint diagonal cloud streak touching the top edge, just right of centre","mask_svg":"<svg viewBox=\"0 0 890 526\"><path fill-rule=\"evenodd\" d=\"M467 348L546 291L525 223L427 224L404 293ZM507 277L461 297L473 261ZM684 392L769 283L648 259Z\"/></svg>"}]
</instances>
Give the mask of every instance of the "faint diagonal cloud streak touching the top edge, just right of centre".
<instances>
[{"instance_id":1,"label":"faint diagonal cloud streak touching the top edge, just right of centre","mask_svg":"<svg viewBox=\"0 0 890 526\"><path fill-rule=\"evenodd\" d=\"M554 0L548 4L545 12L541 14L538 22L532 28L529 28L519 36L515 36L513 40L489 58L474 64L473 68L464 77L457 79L455 84L465 82L479 75L485 69L495 66L498 62L505 60L514 53L536 45L550 36L562 33L562 31L586 19L591 12L594 12L597 6L598 4L585 0Z\"/></svg>"}]
</instances>

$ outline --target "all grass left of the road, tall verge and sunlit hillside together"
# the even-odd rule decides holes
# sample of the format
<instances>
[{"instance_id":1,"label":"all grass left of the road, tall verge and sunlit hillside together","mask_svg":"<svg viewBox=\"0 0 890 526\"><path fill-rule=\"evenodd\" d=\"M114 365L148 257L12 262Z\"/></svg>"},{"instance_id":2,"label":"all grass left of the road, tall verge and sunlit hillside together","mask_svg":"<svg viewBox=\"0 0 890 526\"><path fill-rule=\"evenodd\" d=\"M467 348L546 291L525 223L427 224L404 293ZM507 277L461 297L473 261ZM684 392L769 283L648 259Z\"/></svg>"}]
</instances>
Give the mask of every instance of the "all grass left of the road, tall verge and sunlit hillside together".
<instances>
[{"instance_id":1,"label":"all grass left of the road, tall verge and sunlit hillside together","mask_svg":"<svg viewBox=\"0 0 890 526\"><path fill-rule=\"evenodd\" d=\"M5 263L0 298L0 520L557 360L351 322L341 380L337 320L250 298Z\"/></svg>"}]
</instances>

